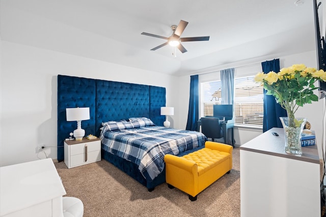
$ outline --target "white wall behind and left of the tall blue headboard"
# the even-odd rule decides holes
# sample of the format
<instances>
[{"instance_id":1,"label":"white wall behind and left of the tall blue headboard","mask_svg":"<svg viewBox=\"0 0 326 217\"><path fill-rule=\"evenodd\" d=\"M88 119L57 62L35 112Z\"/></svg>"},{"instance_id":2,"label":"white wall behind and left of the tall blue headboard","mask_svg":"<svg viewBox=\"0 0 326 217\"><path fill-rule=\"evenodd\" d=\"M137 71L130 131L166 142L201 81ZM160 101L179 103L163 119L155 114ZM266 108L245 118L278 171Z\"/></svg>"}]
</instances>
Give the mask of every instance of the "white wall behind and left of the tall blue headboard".
<instances>
[{"instance_id":1,"label":"white wall behind and left of the tall blue headboard","mask_svg":"<svg viewBox=\"0 0 326 217\"><path fill-rule=\"evenodd\" d=\"M45 158L39 145L57 158L58 74L165 87L167 105L179 110L174 76L2 41L1 166Z\"/></svg>"}]
</instances>

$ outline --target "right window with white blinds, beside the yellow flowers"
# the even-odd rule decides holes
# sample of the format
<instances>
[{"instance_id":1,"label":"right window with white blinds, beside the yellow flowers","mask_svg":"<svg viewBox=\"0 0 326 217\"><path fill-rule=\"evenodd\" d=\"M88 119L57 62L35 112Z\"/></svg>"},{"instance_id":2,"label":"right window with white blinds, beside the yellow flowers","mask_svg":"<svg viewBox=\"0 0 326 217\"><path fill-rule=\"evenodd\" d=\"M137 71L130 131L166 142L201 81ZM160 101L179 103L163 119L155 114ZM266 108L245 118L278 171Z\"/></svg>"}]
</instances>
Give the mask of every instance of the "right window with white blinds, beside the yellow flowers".
<instances>
[{"instance_id":1,"label":"right window with white blinds, beside the yellow flowers","mask_svg":"<svg viewBox=\"0 0 326 217\"><path fill-rule=\"evenodd\" d=\"M262 127L263 88L254 76L234 79L234 124Z\"/></svg>"}]
</instances>

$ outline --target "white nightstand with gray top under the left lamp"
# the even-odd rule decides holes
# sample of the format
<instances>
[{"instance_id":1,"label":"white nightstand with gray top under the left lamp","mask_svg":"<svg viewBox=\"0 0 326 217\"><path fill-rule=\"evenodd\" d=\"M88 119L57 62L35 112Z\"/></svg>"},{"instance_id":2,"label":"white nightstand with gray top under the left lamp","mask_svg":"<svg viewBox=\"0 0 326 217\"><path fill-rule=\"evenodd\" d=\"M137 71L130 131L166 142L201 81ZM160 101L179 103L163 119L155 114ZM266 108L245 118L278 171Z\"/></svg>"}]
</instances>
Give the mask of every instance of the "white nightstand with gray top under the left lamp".
<instances>
[{"instance_id":1,"label":"white nightstand with gray top under the left lamp","mask_svg":"<svg viewBox=\"0 0 326 217\"><path fill-rule=\"evenodd\" d=\"M101 160L101 140L68 140L65 144L65 164L73 168Z\"/></svg>"}]
</instances>

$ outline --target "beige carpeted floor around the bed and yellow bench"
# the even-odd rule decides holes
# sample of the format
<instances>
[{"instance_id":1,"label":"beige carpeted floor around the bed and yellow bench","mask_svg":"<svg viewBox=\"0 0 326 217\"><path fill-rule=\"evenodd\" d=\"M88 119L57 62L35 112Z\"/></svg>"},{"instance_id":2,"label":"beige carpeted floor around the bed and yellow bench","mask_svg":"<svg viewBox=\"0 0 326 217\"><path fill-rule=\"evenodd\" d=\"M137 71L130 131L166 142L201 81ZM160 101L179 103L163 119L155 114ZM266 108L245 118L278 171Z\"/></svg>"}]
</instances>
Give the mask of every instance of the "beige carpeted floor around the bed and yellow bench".
<instances>
[{"instance_id":1,"label":"beige carpeted floor around the bed and yellow bench","mask_svg":"<svg viewBox=\"0 0 326 217\"><path fill-rule=\"evenodd\" d=\"M167 184L153 192L115 166L101 160L72 169L55 163L67 195L84 203L84 216L240 216L239 148L233 150L233 169L191 202Z\"/></svg>"}]
</instances>

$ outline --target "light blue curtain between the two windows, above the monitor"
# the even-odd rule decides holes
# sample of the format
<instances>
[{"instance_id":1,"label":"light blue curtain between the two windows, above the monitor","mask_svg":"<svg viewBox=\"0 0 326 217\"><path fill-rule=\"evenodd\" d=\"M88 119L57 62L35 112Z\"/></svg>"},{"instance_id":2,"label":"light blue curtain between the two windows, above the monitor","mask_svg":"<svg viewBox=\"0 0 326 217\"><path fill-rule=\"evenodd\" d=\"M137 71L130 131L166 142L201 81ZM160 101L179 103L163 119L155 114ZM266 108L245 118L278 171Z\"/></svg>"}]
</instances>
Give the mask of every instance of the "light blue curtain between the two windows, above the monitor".
<instances>
[{"instance_id":1,"label":"light blue curtain between the two windows, above the monitor","mask_svg":"<svg viewBox=\"0 0 326 217\"><path fill-rule=\"evenodd\" d=\"M222 104L233 104L234 68L221 70Z\"/></svg>"}]
</instances>

